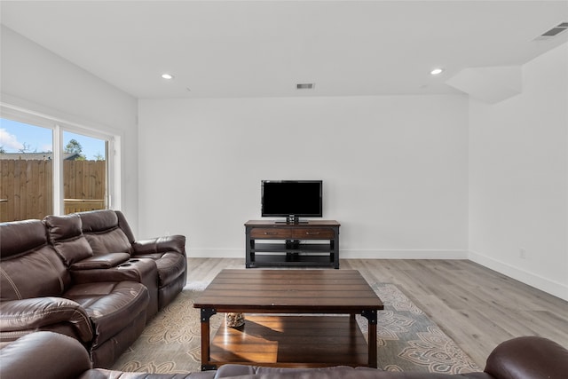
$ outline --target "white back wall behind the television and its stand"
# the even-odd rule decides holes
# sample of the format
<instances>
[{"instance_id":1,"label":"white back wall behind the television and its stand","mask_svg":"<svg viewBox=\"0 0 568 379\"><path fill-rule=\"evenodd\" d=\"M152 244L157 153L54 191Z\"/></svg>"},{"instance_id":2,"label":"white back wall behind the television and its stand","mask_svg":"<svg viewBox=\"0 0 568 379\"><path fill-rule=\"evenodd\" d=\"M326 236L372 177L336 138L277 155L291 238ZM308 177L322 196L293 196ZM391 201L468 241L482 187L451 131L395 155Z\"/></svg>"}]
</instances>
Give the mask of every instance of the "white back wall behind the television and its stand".
<instances>
[{"instance_id":1,"label":"white back wall behind the television and its stand","mask_svg":"<svg viewBox=\"0 0 568 379\"><path fill-rule=\"evenodd\" d=\"M322 179L343 257L467 257L464 96L141 100L140 233L244 257L262 179Z\"/></svg>"}]
</instances>

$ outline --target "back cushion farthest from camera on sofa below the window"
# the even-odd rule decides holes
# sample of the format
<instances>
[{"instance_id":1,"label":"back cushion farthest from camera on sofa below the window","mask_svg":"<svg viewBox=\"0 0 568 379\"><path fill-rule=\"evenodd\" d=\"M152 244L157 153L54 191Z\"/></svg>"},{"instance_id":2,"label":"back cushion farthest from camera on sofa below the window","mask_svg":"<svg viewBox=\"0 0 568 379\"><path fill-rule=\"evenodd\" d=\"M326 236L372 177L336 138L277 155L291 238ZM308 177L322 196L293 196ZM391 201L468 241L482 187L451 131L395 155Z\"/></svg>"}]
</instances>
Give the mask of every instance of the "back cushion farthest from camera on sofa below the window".
<instances>
[{"instance_id":1,"label":"back cushion farthest from camera on sofa below the window","mask_svg":"<svg viewBox=\"0 0 568 379\"><path fill-rule=\"evenodd\" d=\"M78 215L83 221L83 234L95 255L131 253L132 245L118 225L114 210L92 210Z\"/></svg>"}]
</instances>

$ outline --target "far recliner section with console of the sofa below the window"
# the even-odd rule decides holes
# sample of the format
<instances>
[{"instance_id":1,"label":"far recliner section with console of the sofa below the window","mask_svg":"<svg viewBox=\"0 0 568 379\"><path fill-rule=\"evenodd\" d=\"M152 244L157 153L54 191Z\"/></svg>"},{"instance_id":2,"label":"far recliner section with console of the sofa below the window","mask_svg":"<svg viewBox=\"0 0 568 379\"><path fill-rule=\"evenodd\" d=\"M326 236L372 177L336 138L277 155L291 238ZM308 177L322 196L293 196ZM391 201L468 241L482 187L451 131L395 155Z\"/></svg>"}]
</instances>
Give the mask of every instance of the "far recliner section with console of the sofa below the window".
<instances>
[{"instance_id":1,"label":"far recliner section with console of the sofa below the window","mask_svg":"<svg viewBox=\"0 0 568 379\"><path fill-rule=\"evenodd\" d=\"M147 315L156 312L185 286L185 236L136 241L121 211L92 210L43 219L53 246L78 282L135 280L149 290ZM88 241L77 249L76 240Z\"/></svg>"}]
</instances>

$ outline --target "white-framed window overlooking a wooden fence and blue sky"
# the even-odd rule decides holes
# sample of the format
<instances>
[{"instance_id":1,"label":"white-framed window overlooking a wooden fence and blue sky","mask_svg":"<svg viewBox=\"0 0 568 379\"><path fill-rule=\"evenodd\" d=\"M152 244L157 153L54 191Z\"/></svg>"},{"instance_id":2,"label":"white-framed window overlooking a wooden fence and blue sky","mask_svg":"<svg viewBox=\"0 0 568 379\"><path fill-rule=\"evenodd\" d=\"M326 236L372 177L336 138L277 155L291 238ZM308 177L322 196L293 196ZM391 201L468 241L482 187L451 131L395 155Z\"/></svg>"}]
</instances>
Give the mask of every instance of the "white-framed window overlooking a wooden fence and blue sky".
<instances>
[{"instance_id":1,"label":"white-framed window overlooking a wooden fence and blue sky","mask_svg":"<svg viewBox=\"0 0 568 379\"><path fill-rule=\"evenodd\" d=\"M0 221L110 208L114 136L9 111L0 118Z\"/></svg>"}]
</instances>

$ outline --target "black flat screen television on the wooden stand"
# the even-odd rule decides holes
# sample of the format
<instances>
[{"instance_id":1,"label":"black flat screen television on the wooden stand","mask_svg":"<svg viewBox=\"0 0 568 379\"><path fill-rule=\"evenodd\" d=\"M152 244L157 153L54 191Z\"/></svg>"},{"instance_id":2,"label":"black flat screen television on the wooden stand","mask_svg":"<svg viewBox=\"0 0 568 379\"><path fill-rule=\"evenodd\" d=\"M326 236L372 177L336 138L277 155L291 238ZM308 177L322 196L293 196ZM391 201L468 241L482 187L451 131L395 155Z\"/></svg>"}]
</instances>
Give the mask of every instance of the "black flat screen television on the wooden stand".
<instances>
[{"instance_id":1,"label":"black flat screen television on the wooden stand","mask_svg":"<svg viewBox=\"0 0 568 379\"><path fill-rule=\"evenodd\" d=\"M322 217L321 180L263 180L261 216L286 217L298 223L299 217Z\"/></svg>"}]
</instances>

